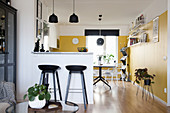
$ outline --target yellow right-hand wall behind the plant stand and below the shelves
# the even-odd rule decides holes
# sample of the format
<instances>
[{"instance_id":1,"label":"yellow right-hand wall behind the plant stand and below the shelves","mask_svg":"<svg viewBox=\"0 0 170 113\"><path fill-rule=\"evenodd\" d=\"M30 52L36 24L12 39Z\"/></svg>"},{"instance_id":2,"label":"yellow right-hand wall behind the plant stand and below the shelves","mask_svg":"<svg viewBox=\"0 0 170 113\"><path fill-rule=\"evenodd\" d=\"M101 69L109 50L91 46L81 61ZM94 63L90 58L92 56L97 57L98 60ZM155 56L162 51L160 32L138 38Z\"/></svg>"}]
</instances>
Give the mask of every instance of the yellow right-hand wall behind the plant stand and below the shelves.
<instances>
[{"instance_id":1,"label":"yellow right-hand wall behind the plant stand and below the shelves","mask_svg":"<svg viewBox=\"0 0 170 113\"><path fill-rule=\"evenodd\" d=\"M167 102L167 61L163 60L167 56L167 12L159 18L159 42L152 42L153 22L145 26L148 30L149 42L130 47L130 72L132 80L135 80L134 73L137 68L148 68L149 74L155 74L155 84L153 84L154 94Z\"/></svg>"}]
</instances>

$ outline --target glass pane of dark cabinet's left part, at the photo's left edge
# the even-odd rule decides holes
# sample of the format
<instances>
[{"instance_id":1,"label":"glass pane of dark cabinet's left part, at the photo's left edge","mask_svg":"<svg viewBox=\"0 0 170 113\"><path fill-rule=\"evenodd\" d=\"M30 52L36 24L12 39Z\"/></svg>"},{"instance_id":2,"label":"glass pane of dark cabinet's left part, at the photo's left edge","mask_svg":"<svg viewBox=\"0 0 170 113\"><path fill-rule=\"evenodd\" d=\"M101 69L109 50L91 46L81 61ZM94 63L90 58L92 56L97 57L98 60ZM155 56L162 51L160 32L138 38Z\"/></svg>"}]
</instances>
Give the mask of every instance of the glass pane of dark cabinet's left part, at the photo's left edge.
<instances>
[{"instance_id":1,"label":"glass pane of dark cabinet's left part, at the photo's left edge","mask_svg":"<svg viewBox=\"0 0 170 113\"><path fill-rule=\"evenodd\" d=\"M0 53L5 52L5 10L0 8Z\"/></svg>"}]
</instances>

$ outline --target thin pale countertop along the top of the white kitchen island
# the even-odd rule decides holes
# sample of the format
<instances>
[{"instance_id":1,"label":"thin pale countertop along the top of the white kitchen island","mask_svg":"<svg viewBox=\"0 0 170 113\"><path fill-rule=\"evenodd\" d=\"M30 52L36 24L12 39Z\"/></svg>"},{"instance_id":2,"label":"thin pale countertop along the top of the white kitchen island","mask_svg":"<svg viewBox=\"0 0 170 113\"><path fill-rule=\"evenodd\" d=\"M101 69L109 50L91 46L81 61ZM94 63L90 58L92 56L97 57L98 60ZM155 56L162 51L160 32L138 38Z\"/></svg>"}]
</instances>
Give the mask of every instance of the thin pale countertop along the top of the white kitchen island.
<instances>
[{"instance_id":1,"label":"thin pale countertop along the top of the white kitchen island","mask_svg":"<svg viewBox=\"0 0 170 113\"><path fill-rule=\"evenodd\" d=\"M31 52L32 54L73 54L73 55L93 55L92 52Z\"/></svg>"}]
</instances>

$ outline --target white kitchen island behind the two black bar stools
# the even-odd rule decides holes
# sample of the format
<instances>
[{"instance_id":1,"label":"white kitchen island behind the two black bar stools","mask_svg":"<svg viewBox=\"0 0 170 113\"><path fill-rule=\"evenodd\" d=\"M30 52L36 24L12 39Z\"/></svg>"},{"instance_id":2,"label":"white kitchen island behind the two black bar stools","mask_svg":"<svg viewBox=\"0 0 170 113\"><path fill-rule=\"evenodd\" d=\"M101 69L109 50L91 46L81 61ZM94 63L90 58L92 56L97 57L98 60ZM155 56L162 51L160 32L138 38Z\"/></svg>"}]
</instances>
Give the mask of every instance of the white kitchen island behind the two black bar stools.
<instances>
[{"instance_id":1,"label":"white kitchen island behind the two black bar stools","mask_svg":"<svg viewBox=\"0 0 170 113\"><path fill-rule=\"evenodd\" d=\"M32 52L32 77L34 83L38 83L40 79L41 71L38 69L40 64L51 64L58 65L61 67L58 70L60 87L63 100L65 99L67 79L69 71L65 68L66 65L85 65L87 69L84 71L85 82L87 89L87 96L89 104L93 104L93 53L90 52ZM52 76L49 76L51 80L49 83L50 87L53 88ZM72 76L71 78L71 89L82 89L80 75ZM73 90L74 91L74 90ZM77 92L77 90L75 90ZM82 92L81 90L78 92ZM53 97L53 95L52 95ZM59 95L57 92L57 99ZM69 93L68 100L83 104L82 93Z\"/></svg>"}]
</instances>

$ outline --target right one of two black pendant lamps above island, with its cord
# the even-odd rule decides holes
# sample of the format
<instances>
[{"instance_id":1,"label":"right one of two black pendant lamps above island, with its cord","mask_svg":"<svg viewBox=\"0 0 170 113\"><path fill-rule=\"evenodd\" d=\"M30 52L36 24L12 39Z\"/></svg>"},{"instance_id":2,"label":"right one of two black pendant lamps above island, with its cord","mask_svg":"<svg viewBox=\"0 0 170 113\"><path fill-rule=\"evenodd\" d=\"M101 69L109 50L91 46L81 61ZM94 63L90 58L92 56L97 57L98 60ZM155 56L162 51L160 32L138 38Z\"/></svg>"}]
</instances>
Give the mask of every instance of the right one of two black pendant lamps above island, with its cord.
<instances>
[{"instance_id":1,"label":"right one of two black pendant lamps above island, with its cord","mask_svg":"<svg viewBox=\"0 0 170 113\"><path fill-rule=\"evenodd\" d=\"M69 22L70 23L79 22L78 16L75 14L75 0L73 0L73 14L70 16Z\"/></svg>"}]
</instances>

